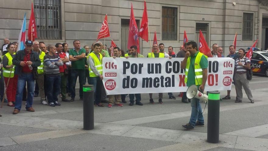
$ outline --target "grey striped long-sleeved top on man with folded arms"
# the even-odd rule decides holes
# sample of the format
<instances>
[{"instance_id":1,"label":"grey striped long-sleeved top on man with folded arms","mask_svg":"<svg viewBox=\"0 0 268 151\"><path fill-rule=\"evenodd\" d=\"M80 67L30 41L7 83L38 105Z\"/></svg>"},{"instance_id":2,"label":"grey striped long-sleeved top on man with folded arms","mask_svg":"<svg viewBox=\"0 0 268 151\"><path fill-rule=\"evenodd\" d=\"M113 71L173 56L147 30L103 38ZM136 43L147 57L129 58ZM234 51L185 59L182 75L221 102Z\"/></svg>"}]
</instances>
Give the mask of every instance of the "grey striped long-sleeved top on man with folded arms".
<instances>
[{"instance_id":1,"label":"grey striped long-sleeved top on man with folded arms","mask_svg":"<svg viewBox=\"0 0 268 151\"><path fill-rule=\"evenodd\" d=\"M63 66L63 62L58 62L59 60L60 57L57 54L53 56L46 54L46 56L44 56L44 69L46 75L59 75L59 66Z\"/></svg>"}]
</instances>

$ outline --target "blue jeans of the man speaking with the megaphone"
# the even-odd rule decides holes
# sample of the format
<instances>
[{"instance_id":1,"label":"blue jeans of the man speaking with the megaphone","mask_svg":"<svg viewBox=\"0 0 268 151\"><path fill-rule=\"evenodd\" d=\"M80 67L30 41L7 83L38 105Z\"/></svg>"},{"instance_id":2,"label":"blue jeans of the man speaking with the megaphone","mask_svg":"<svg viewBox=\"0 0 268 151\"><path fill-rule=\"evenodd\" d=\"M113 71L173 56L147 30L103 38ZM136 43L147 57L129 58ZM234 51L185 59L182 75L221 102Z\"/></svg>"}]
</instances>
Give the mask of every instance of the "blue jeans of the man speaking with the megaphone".
<instances>
[{"instance_id":1,"label":"blue jeans of the man speaking with the megaphone","mask_svg":"<svg viewBox=\"0 0 268 151\"><path fill-rule=\"evenodd\" d=\"M204 123L204 117L202 114L202 107L200 105L200 100L196 98L191 99L191 106L192 106L192 113L189 124L195 127L196 120L198 120L199 123Z\"/></svg>"}]
</instances>

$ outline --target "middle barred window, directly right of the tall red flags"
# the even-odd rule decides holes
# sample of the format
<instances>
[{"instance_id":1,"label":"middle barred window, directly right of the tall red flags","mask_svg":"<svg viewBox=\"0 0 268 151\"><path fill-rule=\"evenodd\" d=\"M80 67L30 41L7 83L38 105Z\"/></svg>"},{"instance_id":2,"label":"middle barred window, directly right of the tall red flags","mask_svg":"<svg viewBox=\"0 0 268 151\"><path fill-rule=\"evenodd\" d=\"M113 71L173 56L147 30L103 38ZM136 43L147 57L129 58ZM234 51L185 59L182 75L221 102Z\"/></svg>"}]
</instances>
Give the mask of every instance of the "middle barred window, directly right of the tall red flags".
<instances>
[{"instance_id":1,"label":"middle barred window, directly right of the tall red flags","mask_svg":"<svg viewBox=\"0 0 268 151\"><path fill-rule=\"evenodd\" d=\"M162 40L177 40L176 7L162 7Z\"/></svg>"}]
</instances>

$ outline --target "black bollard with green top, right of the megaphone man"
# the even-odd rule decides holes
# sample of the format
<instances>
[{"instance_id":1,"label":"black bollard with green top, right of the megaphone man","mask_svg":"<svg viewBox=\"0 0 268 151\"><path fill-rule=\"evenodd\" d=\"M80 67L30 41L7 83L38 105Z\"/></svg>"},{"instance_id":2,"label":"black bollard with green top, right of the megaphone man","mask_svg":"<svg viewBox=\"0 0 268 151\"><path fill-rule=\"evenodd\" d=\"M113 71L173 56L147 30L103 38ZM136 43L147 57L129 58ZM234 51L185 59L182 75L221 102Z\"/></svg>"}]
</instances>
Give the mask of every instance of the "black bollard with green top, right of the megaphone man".
<instances>
[{"instance_id":1,"label":"black bollard with green top, right of the megaphone man","mask_svg":"<svg viewBox=\"0 0 268 151\"><path fill-rule=\"evenodd\" d=\"M220 92L208 92L207 110L207 141L218 143L220 130Z\"/></svg>"}]
</instances>

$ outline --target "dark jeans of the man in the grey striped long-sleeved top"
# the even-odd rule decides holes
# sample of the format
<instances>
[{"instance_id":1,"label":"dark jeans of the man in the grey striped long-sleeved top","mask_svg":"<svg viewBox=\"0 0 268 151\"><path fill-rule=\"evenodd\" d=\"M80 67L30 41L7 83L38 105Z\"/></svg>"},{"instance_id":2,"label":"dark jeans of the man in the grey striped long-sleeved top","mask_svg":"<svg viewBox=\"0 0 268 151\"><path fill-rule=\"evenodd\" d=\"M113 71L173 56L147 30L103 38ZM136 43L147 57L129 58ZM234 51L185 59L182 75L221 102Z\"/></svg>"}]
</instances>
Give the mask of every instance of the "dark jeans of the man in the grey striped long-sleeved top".
<instances>
[{"instance_id":1,"label":"dark jeans of the man in the grey striped long-sleeved top","mask_svg":"<svg viewBox=\"0 0 268 151\"><path fill-rule=\"evenodd\" d=\"M61 76L60 75L47 76L48 103L58 101L60 88L61 88Z\"/></svg>"}]
</instances>

